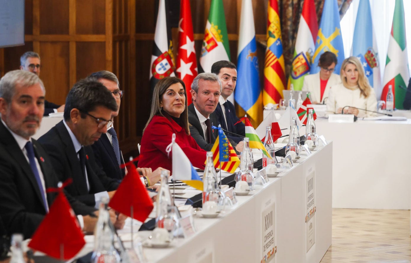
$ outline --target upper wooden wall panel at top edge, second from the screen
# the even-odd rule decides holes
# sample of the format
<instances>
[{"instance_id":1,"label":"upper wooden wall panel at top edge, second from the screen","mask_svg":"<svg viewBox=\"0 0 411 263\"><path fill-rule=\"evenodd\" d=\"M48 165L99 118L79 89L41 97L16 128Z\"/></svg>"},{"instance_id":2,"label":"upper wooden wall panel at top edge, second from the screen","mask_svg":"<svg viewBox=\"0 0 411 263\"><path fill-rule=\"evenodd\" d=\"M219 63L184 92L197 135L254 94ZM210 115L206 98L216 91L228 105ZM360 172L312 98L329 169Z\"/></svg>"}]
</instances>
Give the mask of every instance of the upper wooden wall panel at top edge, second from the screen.
<instances>
[{"instance_id":1,"label":"upper wooden wall panel at top edge, second from the screen","mask_svg":"<svg viewBox=\"0 0 411 263\"><path fill-rule=\"evenodd\" d=\"M71 0L70 0L71 1ZM106 6L101 0L76 0L76 34L105 34Z\"/></svg>"}]
</instances>

